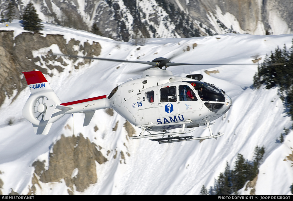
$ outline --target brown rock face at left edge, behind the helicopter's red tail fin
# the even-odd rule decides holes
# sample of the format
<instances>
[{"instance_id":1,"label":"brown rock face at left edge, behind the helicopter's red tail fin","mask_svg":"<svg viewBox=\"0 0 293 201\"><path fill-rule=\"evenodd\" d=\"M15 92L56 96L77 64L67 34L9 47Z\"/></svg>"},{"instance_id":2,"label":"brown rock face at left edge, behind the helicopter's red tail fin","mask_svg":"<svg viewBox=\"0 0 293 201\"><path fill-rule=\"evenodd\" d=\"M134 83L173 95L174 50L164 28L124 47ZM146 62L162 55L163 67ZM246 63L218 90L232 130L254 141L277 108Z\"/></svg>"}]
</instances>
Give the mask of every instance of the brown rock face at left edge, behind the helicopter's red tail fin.
<instances>
[{"instance_id":1,"label":"brown rock face at left edge, behind the helicopter's red tail fin","mask_svg":"<svg viewBox=\"0 0 293 201\"><path fill-rule=\"evenodd\" d=\"M87 56L98 56L101 46L97 42L89 44L85 42L71 39L68 43L62 35L47 34L46 37L39 33L23 32L13 39L13 31L0 31L0 106L5 100L5 93L9 98L16 98L19 92L27 86L24 77L21 79L21 73L32 71L34 68L40 70L44 74L53 74L48 70L57 69L62 72L68 64L60 57L52 55L52 51L48 51L41 58L33 57L33 52L40 48L50 47L57 44L60 51L67 55L77 55L79 51L83 51ZM79 50L74 47L79 46ZM76 58L69 58L76 61ZM56 63L56 65L49 64ZM79 66L89 63L91 60L84 60L84 63L75 65L75 69ZM17 90L16 96L13 97L13 90Z\"/></svg>"}]
</instances>

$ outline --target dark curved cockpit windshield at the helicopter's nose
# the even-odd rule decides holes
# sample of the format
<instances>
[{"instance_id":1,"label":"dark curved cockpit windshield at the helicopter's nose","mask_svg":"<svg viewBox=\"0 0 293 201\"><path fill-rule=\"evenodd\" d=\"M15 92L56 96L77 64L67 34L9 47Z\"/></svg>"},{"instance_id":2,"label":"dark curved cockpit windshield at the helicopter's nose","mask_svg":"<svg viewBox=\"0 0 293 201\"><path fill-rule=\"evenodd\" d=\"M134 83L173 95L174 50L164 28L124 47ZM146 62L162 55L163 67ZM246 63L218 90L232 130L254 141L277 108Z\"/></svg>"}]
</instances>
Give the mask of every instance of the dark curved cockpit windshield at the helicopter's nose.
<instances>
[{"instance_id":1,"label":"dark curved cockpit windshield at the helicopter's nose","mask_svg":"<svg viewBox=\"0 0 293 201\"><path fill-rule=\"evenodd\" d=\"M194 89L197 91L201 100L225 102L225 96L223 95L222 91L212 84L209 84L206 82L199 82L199 81L183 81L183 82L190 83L192 86L194 86Z\"/></svg>"}]
</instances>

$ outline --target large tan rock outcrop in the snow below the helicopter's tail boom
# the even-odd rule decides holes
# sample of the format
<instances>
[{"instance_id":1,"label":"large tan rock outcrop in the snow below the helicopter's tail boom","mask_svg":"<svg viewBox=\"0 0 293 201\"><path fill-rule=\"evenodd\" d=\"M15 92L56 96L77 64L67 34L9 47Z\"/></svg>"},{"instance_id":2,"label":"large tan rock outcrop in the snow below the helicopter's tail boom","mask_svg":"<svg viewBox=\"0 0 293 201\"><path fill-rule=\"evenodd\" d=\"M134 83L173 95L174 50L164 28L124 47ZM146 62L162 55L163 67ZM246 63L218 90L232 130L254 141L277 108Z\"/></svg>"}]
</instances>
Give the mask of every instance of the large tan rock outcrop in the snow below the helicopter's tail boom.
<instances>
[{"instance_id":1,"label":"large tan rock outcrop in the snow below the helicopter's tail boom","mask_svg":"<svg viewBox=\"0 0 293 201\"><path fill-rule=\"evenodd\" d=\"M79 135L61 136L54 144L53 153L50 153L48 170L45 171L43 162L33 163L35 174L40 176L41 182L59 182L64 179L72 191L75 185L76 190L80 192L97 182L95 161L102 164L107 162L107 159L97 150L96 144L91 143L88 138L85 139L82 134Z\"/></svg>"}]
</instances>

